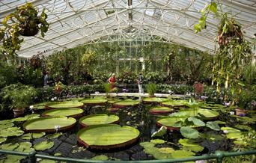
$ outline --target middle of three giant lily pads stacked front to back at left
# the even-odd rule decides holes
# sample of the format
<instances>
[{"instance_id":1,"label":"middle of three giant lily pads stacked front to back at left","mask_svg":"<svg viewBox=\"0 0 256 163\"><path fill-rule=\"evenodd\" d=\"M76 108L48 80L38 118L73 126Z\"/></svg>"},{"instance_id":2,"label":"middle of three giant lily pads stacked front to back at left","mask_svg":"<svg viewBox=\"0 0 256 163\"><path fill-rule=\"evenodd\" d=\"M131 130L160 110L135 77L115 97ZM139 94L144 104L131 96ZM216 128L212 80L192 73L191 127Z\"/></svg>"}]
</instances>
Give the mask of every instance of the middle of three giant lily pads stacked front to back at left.
<instances>
[{"instance_id":1,"label":"middle of three giant lily pads stacked front to back at left","mask_svg":"<svg viewBox=\"0 0 256 163\"><path fill-rule=\"evenodd\" d=\"M43 117L56 117L56 116L66 116L66 117L81 117L84 110L81 108L55 108L49 111L43 112Z\"/></svg>"}]
</instances>

